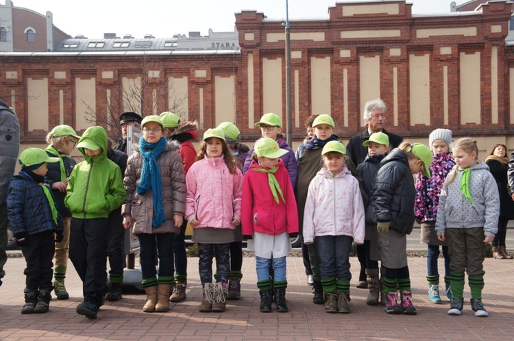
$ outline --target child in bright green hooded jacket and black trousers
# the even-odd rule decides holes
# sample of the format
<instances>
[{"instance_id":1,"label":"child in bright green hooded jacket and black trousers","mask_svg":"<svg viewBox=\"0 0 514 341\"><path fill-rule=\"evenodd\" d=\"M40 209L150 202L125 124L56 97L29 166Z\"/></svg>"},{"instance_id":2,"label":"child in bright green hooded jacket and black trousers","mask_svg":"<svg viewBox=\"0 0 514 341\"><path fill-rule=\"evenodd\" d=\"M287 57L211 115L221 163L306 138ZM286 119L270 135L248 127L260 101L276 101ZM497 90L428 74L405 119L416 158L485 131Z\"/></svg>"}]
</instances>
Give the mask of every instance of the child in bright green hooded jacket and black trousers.
<instances>
[{"instance_id":1,"label":"child in bright green hooded jacket and black trousers","mask_svg":"<svg viewBox=\"0 0 514 341\"><path fill-rule=\"evenodd\" d=\"M86 129L77 149L84 161L73 168L64 199L71 211L70 260L84 283L77 314L97 318L106 292L108 216L123 203L125 188L119 166L107 157L105 129Z\"/></svg>"}]
</instances>

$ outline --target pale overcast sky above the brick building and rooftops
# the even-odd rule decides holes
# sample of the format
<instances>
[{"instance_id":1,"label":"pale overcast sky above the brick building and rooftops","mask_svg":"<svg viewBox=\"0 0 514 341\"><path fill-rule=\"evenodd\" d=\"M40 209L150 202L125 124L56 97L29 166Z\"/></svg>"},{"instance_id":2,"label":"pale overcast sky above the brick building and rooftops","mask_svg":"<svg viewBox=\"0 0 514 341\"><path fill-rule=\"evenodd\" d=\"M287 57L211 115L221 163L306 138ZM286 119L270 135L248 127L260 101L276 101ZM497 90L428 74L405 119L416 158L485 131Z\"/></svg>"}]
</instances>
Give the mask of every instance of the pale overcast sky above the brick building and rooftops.
<instances>
[{"instance_id":1,"label":"pale overcast sky above the brick building and rooftops","mask_svg":"<svg viewBox=\"0 0 514 341\"><path fill-rule=\"evenodd\" d=\"M455 0L457 4L467 0ZM339 1L343 2L343 1ZM411 0L413 13L450 12L451 0ZM5 5L5 0L0 0ZM53 25L76 36L103 38L103 33L132 34L143 38L153 34L167 38L175 33L233 31L234 13L257 10L267 18L285 18L285 0L13 0L14 6L40 14L53 14ZM289 0L289 19L328 18L336 0Z\"/></svg>"}]
</instances>

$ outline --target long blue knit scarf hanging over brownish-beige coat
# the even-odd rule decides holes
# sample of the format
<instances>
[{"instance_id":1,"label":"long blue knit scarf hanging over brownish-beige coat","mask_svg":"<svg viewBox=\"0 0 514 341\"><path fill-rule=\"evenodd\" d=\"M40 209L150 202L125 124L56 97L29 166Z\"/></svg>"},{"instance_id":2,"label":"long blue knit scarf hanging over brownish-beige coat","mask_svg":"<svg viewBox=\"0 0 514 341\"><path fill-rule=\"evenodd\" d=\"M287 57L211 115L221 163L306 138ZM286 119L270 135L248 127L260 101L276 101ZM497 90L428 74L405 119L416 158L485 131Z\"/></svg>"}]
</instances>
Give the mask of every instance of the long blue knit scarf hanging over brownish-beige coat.
<instances>
[{"instance_id":1,"label":"long blue knit scarf hanging over brownish-beige coat","mask_svg":"<svg viewBox=\"0 0 514 341\"><path fill-rule=\"evenodd\" d=\"M139 151L143 155L143 169L141 170L141 179L136 192L139 195L152 191L152 200L154 201L154 220L151 221L152 227L159 227L166 221L164 210L162 209L162 181L160 179L160 170L157 159L166 148L167 140L162 137L157 143L148 143L144 138L139 140Z\"/></svg>"}]
</instances>

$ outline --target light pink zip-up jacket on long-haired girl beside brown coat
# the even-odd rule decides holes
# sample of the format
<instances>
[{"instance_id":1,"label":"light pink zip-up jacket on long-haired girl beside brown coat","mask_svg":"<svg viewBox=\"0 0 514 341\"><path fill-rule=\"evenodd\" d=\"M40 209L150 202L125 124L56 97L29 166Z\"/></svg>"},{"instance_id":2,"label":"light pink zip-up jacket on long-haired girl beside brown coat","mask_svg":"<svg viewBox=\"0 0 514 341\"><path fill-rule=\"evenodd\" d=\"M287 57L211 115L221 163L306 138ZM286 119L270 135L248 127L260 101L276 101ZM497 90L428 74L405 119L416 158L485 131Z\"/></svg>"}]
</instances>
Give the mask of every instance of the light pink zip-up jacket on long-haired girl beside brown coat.
<instances>
[{"instance_id":1,"label":"light pink zip-up jacket on long-haired girl beside brown coat","mask_svg":"<svg viewBox=\"0 0 514 341\"><path fill-rule=\"evenodd\" d=\"M195 162L186 175L186 219L199 221L195 229L235 229L231 222L241 220L242 185L241 170L230 174L223 155Z\"/></svg>"}]
</instances>

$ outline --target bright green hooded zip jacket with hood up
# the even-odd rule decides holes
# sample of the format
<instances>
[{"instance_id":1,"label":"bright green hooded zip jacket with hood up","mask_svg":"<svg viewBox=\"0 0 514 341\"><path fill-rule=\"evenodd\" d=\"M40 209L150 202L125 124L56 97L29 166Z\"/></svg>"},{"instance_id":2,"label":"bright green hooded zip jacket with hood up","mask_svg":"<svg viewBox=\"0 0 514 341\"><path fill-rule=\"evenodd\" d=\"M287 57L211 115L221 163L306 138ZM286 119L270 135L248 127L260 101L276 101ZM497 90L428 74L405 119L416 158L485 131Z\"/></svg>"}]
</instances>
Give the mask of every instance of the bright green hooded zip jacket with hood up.
<instances>
[{"instance_id":1,"label":"bright green hooded zip jacket with hood up","mask_svg":"<svg viewBox=\"0 0 514 341\"><path fill-rule=\"evenodd\" d=\"M98 144L102 152L88 156L84 148L77 148L84 161L71 172L64 204L73 218L108 218L109 212L125 200L123 177L119 166L107 158L106 131L102 127L89 127L77 145L86 138Z\"/></svg>"}]
</instances>

